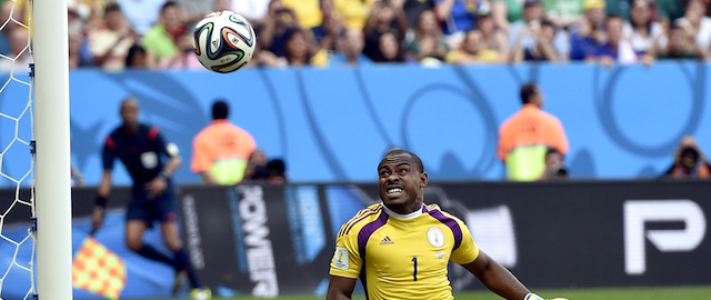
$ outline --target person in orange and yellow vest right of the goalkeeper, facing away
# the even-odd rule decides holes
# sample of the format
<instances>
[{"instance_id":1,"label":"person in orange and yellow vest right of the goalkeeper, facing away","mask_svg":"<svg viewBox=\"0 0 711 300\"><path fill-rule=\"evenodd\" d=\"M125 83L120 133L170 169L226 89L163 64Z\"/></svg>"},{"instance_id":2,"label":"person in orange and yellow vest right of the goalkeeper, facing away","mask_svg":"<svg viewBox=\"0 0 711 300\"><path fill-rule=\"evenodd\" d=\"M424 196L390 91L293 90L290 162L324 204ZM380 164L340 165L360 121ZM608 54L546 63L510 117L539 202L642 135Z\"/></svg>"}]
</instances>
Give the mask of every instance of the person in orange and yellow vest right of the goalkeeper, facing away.
<instances>
[{"instance_id":1,"label":"person in orange and yellow vest right of the goalkeeper, facing away","mask_svg":"<svg viewBox=\"0 0 711 300\"><path fill-rule=\"evenodd\" d=\"M521 87L521 110L499 128L497 157L504 162L509 180L532 181L545 170L548 148L568 153L568 138L558 118L541 110L544 97L537 84Z\"/></svg>"}]
</instances>

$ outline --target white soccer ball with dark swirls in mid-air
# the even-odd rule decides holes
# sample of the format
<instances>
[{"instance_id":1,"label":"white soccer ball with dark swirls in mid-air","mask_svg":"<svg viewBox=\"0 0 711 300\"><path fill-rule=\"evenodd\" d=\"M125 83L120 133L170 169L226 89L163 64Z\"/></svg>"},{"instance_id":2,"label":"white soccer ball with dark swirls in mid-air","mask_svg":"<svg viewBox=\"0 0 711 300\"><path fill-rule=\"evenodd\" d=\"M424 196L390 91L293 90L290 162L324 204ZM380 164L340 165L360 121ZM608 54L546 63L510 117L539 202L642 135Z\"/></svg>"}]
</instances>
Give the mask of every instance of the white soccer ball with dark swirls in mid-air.
<instances>
[{"instance_id":1,"label":"white soccer ball with dark swirls in mid-air","mask_svg":"<svg viewBox=\"0 0 711 300\"><path fill-rule=\"evenodd\" d=\"M193 32L198 60L208 70L229 73L244 67L254 53L257 34L244 17L223 10L204 17Z\"/></svg>"}]
</instances>

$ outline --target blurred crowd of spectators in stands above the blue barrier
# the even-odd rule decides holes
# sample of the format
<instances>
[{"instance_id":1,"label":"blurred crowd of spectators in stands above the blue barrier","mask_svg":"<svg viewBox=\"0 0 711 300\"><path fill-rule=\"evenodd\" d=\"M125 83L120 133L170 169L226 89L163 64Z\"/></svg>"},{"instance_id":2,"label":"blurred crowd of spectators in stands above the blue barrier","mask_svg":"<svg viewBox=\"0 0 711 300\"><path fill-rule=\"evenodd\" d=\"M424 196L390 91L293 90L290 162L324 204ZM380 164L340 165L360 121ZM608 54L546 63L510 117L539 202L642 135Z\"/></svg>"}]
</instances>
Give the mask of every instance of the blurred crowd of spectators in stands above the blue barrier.
<instances>
[{"instance_id":1,"label":"blurred crowd of spectators in stands above the blue barrier","mask_svg":"<svg viewBox=\"0 0 711 300\"><path fill-rule=\"evenodd\" d=\"M1 0L0 0L1 1ZM4 0L0 69L29 61L31 1ZM202 69L192 28L231 10L258 33L252 66L711 59L709 0L68 0L69 63Z\"/></svg>"}]
</instances>

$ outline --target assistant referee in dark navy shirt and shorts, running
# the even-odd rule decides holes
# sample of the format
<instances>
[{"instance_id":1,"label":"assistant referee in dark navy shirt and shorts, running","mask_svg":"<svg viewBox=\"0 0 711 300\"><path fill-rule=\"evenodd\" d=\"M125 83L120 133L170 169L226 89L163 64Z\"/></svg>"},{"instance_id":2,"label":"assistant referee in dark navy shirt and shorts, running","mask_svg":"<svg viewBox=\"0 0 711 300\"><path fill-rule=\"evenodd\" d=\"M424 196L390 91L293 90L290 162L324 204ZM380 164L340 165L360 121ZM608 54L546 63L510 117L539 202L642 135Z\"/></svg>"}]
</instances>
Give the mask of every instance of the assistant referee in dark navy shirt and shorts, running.
<instances>
[{"instance_id":1,"label":"assistant referee in dark navy shirt and shorts, running","mask_svg":"<svg viewBox=\"0 0 711 300\"><path fill-rule=\"evenodd\" d=\"M111 132L103 147L103 177L91 216L92 232L101 228L103 222L107 198L111 193L113 161L119 158L133 179L131 201L126 211L127 247L144 258L174 268L178 284L173 293L180 286L181 274L187 273L193 288L191 297L210 299L211 292L200 283L178 234L173 186L170 179L182 161L178 154L178 147L166 142L158 127L138 122L139 104L136 99L123 100L120 114L123 123ZM161 159L163 157L168 158L166 163ZM172 258L143 243L143 233L154 221L160 222L163 241L174 253Z\"/></svg>"}]
</instances>

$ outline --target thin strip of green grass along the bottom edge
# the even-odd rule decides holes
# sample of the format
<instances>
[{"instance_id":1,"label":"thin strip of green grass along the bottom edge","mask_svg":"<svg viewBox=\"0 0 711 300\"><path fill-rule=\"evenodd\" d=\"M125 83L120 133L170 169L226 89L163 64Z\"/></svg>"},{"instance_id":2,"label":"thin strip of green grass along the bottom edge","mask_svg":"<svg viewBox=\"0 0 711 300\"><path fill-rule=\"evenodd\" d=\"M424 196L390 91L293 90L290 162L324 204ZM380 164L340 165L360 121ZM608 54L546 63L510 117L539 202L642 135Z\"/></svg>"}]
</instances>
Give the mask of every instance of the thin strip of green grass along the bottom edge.
<instances>
[{"instance_id":1,"label":"thin strip of green grass along the bottom edge","mask_svg":"<svg viewBox=\"0 0 711 300\"><path fill-rule=\"evenodd\" d=\"M674 288L614 288L614 289L567 289L567 290L534 290L541 297L564 297L571 300L711 300L711 286L704 287L674 287ZM501 300L502 298L490 291L459 292L454 294L457 300ZM180 298L184 300L187 298ZM216 298L227 299L227 298ZM258 298L238 297L230 299L251 300ZM276 300L322 300L324 297L313 296L281 296ZM362 294L356 294L353 299L364 300ZM179 299L160 299L179 300Z\"/></svg>"}]
</instances>

